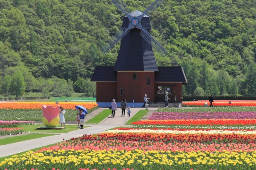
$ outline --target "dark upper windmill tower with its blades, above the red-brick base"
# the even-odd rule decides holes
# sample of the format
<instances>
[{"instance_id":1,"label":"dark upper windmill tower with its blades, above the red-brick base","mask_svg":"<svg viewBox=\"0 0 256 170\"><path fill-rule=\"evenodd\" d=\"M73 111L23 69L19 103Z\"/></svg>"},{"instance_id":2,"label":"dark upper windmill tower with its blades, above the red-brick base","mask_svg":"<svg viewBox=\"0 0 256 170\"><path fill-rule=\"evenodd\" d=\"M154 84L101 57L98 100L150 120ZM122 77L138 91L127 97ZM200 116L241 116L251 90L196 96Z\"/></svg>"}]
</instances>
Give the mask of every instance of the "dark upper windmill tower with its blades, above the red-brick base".
<instances>
[{"instance_id":1,"label":"dark upper windmill tower with its blades, above the red-brick base","mask_svg":"<svg viewBox=\"0 0 256 170\"><path fill-rule=\"evenodd\" d=\"M120 1L112 1L126 14L123 18L121 34L104 51L106 53L116 42L122 39L114 71L158 71L152 42L162 53L166 53L166 50L150 35L151 23L146 12L160 0L156 0L144 12L134 11L130 13L121 7L125 8Z\"/></svg>"}]
</instances>

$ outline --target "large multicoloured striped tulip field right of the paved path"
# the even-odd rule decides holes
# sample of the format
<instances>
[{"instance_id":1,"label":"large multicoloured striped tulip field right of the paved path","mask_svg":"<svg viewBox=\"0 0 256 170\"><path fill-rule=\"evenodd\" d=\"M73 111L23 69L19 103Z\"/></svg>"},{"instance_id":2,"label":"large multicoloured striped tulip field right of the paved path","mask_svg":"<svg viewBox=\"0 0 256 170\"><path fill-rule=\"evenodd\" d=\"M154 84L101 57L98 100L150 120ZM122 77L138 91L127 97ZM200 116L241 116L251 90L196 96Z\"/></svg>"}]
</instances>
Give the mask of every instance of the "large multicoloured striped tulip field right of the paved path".
<instances>
[{"instance_id":1,"label":"large multicoloured striped tulip field right of the paved path","mask_svg":"<svg viewBox=\"0 0 256 170\"><path fill-rule=\"evenodd\" d=\"M0 169L256 170L256 101L250 102L254 106L158 108L130 127L12 156Z\"/></svg>"}]
</instances>

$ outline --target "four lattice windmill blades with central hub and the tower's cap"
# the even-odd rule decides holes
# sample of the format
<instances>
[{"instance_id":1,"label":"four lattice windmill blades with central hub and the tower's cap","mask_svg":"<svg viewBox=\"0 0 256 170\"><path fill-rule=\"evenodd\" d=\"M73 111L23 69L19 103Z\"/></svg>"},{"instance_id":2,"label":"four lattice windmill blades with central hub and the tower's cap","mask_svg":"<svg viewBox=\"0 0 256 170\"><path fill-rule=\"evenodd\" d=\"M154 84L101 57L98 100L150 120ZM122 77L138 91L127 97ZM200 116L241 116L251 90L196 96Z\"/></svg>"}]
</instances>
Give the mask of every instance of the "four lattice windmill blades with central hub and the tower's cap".
<instances>
[{"instance_id":1,"label":"four lattice windmill blades with central hub and the tower's cap","mask_svg":"<svg viewBox=\"0 0 256 170\"><path fill-rule=\"evenodd\" d=\"M122 39L132 29L139 29L140 36L142 36L142 38L144 38L146 40L146 42L148 42L148 44L150 44L152 46L152 41L153 41L156 44L156 46L154 46L154 47L156 47L156 50L158 52L160 52L161 54L166 53L166 50L151 36L150 32L147 31L146 28L144 28L144 26L146 26L147 28L150 27L150 30L151 30L150 19L146 15L146 13L154 5L161 2L161 0L156 0L155 2L153 2L144 12L134 11L131 13L126 12L126 11L128 11L127 10L128 8L126 8L126 6L120 0L112 0L112 1L114 2L114 4L116 4L116 6L120 10L122 10L122 12L124 12L124 14L126 14L126 17L128 18L128 22L125 22L126 19L123 20L121 31L119 32L119 34L116 35L116 39L114 39L114 40L112 40L112 42L110 42L110 46L107 49L105 48L106 50L103 50L104 53L108 52L108 50L110 48L112 48L112 46L114 46L114 44L116 44L116 42L118 42L120 39ZM124 8L126 10L124 10Z\"/></svg>"}]
</instances>

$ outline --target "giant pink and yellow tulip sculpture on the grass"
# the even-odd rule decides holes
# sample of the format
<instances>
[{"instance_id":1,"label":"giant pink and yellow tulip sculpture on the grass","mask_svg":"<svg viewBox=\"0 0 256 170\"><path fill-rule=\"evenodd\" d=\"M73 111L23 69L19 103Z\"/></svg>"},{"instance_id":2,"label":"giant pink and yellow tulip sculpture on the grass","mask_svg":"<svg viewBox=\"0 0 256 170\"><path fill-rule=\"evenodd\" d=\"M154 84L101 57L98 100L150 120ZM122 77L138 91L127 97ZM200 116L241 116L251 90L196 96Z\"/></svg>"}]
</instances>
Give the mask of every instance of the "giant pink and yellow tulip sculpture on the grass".
<instances>
[{"instance_id":1,"label":"giant pink and yellow tulip sculpture on the grass","mask_svg":"<svg viewBox=\"0 0 256 170\"><path fill-rule=\"evenodd\" d=\"M60 122L60 106L58 105L54 108L53 106L42 105L42 110L44 126L48 128L56 127Z\"/></svg>"}]
</instances>

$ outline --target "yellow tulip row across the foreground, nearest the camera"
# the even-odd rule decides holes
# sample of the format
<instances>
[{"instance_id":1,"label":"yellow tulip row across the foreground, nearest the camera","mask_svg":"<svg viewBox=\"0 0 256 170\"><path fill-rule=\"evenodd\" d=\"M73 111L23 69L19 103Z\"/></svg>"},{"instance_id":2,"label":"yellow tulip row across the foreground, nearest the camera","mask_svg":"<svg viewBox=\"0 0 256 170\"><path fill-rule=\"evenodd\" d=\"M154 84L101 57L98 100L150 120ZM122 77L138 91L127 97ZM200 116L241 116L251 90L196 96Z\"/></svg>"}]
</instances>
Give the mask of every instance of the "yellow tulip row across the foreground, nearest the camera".
<instances>
[{"instance_id":1,"label":"yellow tulip row across the foreground, nearest the camera","mask_svg":"<svg viewBox=\"0 0 256 170\"><path fill-rule=\"evenodd\" d=\"M132 169L170 169L175 166L190 168L225 167L228 169L256 168L256 151L252 152L172 152L158 150L45 150L44 152L26 152L13 156L0 163L0 167L10 168L22 166L26 168L49 169L49 167L106 167L129 166ZM248 167L248 168L247 168ZM251 168L249 168L251 167ZM182 168L185 169L185 168ZM188 169L188 168L186 168ZM219 168L220 169L220 168Z\"/></svg>"}]
</instances>

